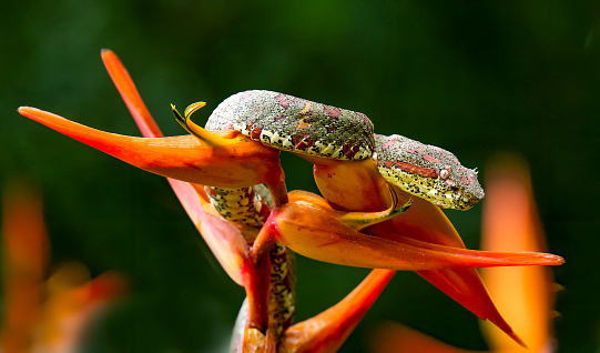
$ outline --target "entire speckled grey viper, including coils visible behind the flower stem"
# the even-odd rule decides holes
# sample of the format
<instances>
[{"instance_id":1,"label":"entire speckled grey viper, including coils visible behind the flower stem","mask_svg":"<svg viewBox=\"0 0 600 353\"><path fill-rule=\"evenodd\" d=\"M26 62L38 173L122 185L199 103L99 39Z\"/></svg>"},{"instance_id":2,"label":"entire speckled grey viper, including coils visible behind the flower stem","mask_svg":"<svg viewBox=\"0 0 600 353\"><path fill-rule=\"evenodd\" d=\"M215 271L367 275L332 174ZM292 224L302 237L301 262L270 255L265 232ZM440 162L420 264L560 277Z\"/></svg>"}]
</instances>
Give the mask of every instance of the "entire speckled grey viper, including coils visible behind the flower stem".
<instances>
[{"instance_id":1,"label":"entire speckled grey viper, including coils visible behind the flower stem","mask_svg":"<svg viewBox=\"0 0 600 353\"><path fill-rule=\"evenodd\" d=\"M477 171L462 167L452 153L397 134L375 134L363 113L284 93L235 93L218 104L205 129L236 130L265 145L299 154L347 161L374 158L389 183L440 208L467 210L484 198ZM206 186L206 191L215 209L232 222L260 228L273 206L264 185ZM295 311L294 258L277 243L271 261L268 325L281 336Z\"/></svg>"}]
</instances>

